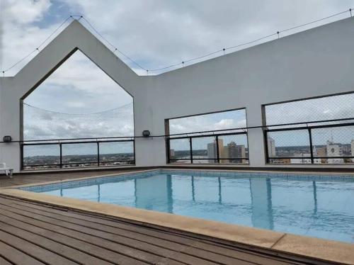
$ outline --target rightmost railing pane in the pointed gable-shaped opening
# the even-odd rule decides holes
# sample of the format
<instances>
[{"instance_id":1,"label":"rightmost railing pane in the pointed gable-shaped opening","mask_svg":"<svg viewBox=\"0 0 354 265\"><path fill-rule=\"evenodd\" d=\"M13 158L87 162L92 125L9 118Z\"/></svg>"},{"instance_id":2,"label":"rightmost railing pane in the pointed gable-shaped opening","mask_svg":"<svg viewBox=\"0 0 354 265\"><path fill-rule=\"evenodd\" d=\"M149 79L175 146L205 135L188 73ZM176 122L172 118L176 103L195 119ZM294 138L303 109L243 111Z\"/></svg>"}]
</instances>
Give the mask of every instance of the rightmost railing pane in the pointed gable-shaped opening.
<instances>
[{"instance_id":1,"label":"rightmost railing pane in the pointed gable-shaped opening","mask_svg":"<svg viewBox=\"0 0 354 265\"><path fill-rule=\"evenodd\" d=\"M134 164L134 142L100 142L100 166Z\"/></svg>"}]
</instances>

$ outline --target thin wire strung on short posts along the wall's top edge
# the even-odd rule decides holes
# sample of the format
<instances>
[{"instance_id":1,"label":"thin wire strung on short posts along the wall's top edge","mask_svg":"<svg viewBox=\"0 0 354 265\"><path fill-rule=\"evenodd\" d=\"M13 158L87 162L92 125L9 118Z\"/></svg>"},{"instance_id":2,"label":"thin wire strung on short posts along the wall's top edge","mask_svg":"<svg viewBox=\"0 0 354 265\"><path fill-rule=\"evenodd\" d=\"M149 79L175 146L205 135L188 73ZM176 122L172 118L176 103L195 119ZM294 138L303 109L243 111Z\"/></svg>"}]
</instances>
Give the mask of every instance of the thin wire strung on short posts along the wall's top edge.
<instances>
[{"instance_id":1,"label":"thin wire strung on short posts along the wall's top edge","mask_svg":"<svg viewBox=\"0 0 354 265\"><path fill-rule=\"evenodd\" d=\"M191 59L189 59L189 60L183 60L183 62L178 62L178 63L176 63L176 64L169 64L169 65L166 65L165 67L159 67L159 68L155 68L155 69L147 69L147 68L143 67L141 64L139 64L137 61L132 60L132 58L129 57L128 55L126 55L125 52L122 52L121 50L118 49L118 47L116 47L115 45L113 45L112 43L110 43L110 41L107 40L98 30L96 30L96 28L93 27L93 25L92 25L84 16L81 16L81 15L72 15L72 16L69 16L68 18L66 18L66 19L63 21L62 24L60 24L42 43L40 43L40 45L38 45L38 47L35 48L35 50L33 50L32 52L30 52L28 55L26 55L25 57L23 57L21 60L19 60L19 61L16 62L15 64L11 65L11 67L8 67L7 69L2 70L1 72L2 72L3 74L5 74L5 73L8 72L9 70L13 69L13 67L16 67L18 64L20 64L20 63L23 62L25 59L27 59L28 57L30 57L30 55L32 55L34 52L36 52L36 51L37 51L37 52L40 52L40 49L39 49L39 48L42 47L42 45L44 45L44 44L47 42L47 40L49 40L49 39L52 37L52 35L54 35L54 34L57 32L57 30L59 30L59 28L62 28L62 26L64 26L64 24L67 23L67 21L69 21L70 18L72 18L72 19L74 19L74 20L76 20L76 21L80 21L81 19L82 19L82 21L85 21L85 22L89 25L89 27L93 30L93 32L96 33L96 35L98 35L102 40L105 41L105 43L107 43L110 47L113 48L113 53L119 52L120 55L124 56L127 60L129 60L130 62L132 62L133 64L135 64L137 67L139 67L140 69L142 69L142 70L144 70L145 72L147 72L147 74L149 74L149 72L159 72L159 71L163 71L163 70L170 69L170 68L173 68L173 67L178 67L178 66L184 67L184 65L185 65L186 62L193 62L193 61L196 61L196 60L201 60L201 59L203 59L203 58L205 58L205 57L210 57L211 55L215 55L215 54L217 54L217 53L219 53L219 52L222 52L222 55L225 55L225 52L226 52L227 50L233 50L233 49L236 49L236 48L238 48L238 47L242 47L242 46L245 46L245 45L250 45L250 44L252 44L252 43L257 43L257 42L260 41L260 40L264 40L264 39L266 39L266 38L270 38L270 37L273 37L273 36L275 36L275 35L278 35L278 38L280 38L280 33L284 33L284 32L287 32L287 31L289 31L289 30L295 30L295 29L297 29L297 28L302 28L302 27L304 27L304 26L309 26L309 25L311 25L311 24L313 24L313 23L318 23L318 22L320 22L320 21L324 21L324 20L326 20L326 19L333 18L333 17L335 17L335 16L339 16L339 15L341 15L341 14L343 14L343 13L348 13L348 12L350 13L350 17L351 17L351 16L352 16L352 9L348 9L348 10L343 11L343 12L335 13L335 14L333 14L333 15L331 15L331 16L326 16L326 17L324 17L324 18L320 18L320 19L317 19L317 20L315 20L315 21L311 21L311 22L309 22L309 23L304 23L304 24L302 24L302 25L295 26L295 27L292 27L292 28L286 28L286 29L284 29L284 30L278 30L276 33L273 33L273 34L270 34L270 35L265 35L265 36L263 36L263 37L261 37L261 38L258 38L258 39L256 39L256 40L251 40L251 41L249 41L249 42L241 43L241 44L239 44L239 45L234 45L234 46L231 46L231 47L224 47L224 48L221 49L221 50L216 50L215 52L210 52L210 53L208 53L208 54L206 54L206 55L201 55L201 56L198 56L198 57L191 58ZM76 18L77 18L77 19L76 19Z\"/></svg>"}]
</instances>

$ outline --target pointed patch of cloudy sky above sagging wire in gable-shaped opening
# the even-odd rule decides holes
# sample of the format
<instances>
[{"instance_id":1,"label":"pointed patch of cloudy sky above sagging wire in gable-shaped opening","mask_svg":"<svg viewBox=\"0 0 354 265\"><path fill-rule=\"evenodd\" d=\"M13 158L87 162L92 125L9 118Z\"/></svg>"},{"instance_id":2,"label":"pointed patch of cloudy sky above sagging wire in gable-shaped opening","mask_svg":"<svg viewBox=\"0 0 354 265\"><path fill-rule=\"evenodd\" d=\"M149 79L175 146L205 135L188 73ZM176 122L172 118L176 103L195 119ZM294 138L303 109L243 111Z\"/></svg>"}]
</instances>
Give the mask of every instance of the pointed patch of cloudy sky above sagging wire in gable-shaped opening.
<instances>
[{"instance_id":1,"label":"pointed patch of cloudy sky above sagging wire in gable-shaped opening","mask_svg":"<svg viewBox=\"0 0 354 265\"><path fill-rule=\"evenodd\" d=\"M132 96L76 51L25 103L64 113L96 113L132 103Z\"/></svg>"}]
</instances>

